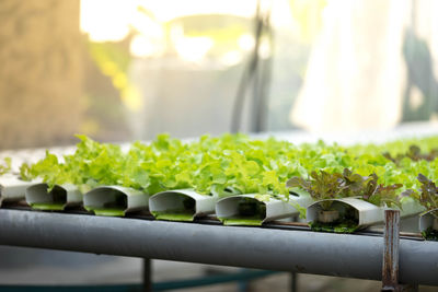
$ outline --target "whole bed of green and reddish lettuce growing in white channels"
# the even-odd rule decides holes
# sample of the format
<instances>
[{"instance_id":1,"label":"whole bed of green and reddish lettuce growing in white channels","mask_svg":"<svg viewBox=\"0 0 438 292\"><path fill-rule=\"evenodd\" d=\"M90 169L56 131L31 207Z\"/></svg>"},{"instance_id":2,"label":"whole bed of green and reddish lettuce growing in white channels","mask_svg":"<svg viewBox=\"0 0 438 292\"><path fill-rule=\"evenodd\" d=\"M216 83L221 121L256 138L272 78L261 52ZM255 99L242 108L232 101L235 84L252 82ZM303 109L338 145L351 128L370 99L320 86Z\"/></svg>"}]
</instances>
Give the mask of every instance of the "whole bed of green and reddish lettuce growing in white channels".
<instances>
[{"instance_id":1,"label":"whole bed of green and reddish lettuce growing in white channels","mask_svg":"<svg viewBox=\"0 0 438 292\"><path fill-rule=\"evenodd\" d=\"M260 194L262 201L275 198L286 202L290 188L298 187L315 200L359 197L390 207L400 207L401 195L419 200L413 191L423 184L416 179L418 174L438 179L438 160L420 159L435 153L437 137L346 148L322 141L296 145L244 135L201 136L182 142L160 135L150 143L134 142L126 151L117 144L77 137L80 141L73 154L57 157L46 152L37 163L23 164L21 176L41 177L50 189L74 184L82 192L100 185L130 187L150 195L194 188L206 196ZM412 144L429 154L420 154ZM408 154L395 161L383 152L391 157ZM323 203L324 209L330 205Z\"/></svg>"}]
</instances>

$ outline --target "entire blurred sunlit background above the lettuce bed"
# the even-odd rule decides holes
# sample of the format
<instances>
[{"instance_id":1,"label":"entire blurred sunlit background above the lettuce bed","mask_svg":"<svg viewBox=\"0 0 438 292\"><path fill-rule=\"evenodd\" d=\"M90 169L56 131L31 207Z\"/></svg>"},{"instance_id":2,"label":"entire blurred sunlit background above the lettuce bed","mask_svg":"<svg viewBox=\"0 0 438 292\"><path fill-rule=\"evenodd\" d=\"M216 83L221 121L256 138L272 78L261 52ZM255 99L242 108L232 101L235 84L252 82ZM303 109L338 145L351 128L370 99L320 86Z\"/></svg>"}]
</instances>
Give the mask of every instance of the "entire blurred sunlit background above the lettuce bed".
<instances>
[{"instance_id":1,"label":"entire blurred sunlit background above the lettuce bed","mask_svg":"<svg viewBox=\"0 0 438 292\"><path fill-rule=\"evenodd\" d=\"M431 0L5 0L0 148L436 120Z\"/></svg>"}]
</instances>

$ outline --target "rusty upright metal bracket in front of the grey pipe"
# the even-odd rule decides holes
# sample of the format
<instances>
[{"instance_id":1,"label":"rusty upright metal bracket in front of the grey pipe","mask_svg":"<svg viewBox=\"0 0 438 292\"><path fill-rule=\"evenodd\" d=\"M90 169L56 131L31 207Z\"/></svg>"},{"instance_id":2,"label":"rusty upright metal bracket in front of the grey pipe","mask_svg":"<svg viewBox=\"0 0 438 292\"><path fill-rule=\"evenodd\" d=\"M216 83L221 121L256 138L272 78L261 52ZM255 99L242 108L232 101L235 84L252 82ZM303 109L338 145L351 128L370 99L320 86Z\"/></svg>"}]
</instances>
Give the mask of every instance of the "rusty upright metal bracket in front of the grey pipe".
<instances>
[{"instance_id":1,"label":"rusty upright metal bracket in front of the grey pipe","mask_svg":"<svg viewBox=\"0 0 438 292\"><path fill-rule=\"evenodd\" d=\"M418 285L399 283L400 211L384 211L381 291L418 291Z\"/></svg>"}]
</instances>

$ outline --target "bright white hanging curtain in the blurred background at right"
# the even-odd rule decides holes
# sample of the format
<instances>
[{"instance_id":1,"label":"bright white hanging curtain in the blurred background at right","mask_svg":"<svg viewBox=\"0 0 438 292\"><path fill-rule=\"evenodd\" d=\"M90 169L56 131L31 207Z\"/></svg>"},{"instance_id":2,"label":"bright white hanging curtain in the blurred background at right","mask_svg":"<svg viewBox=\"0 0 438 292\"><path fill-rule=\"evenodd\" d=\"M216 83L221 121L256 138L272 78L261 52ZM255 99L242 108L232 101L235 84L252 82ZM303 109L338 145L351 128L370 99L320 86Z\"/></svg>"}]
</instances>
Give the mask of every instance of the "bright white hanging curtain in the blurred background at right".
<instances>
[{"instance_id":1,"label":"bright white hanging curtain in the blurred background at right","mask_svg":"<svg viewBox=\"0 0 438 292\"><path fill-rule=\"evenodd\" d=\"M417 1L422 25L416 33L428 40L435 61L437 10L438 1ZM402 49L412 1L332 0L323 13L290 120L311 131L392 128L402 116L406 84Z\"/></svg>"}]
</instances>

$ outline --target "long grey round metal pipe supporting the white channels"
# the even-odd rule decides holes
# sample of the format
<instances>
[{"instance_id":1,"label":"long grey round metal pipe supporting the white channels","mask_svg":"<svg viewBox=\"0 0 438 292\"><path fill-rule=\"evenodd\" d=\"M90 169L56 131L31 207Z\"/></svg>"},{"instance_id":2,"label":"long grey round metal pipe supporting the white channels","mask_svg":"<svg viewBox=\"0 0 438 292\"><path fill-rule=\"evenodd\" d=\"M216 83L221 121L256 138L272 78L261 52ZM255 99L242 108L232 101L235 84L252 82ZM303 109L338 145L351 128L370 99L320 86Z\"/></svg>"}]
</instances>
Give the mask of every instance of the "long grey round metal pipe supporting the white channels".
<instances>
[{"instance_id":1,"label":"long grey round metal pipe supporting the white channels","mask_svg":"<svg viewBox=\"0 0 438 292\"><path fill-rule=\"evenodd\" d=\"M0 244L382 279L380 235L0 209ZM399 250L400 282L438 285L438 243L401 238Z\"/></svg>"}]
</instances>

